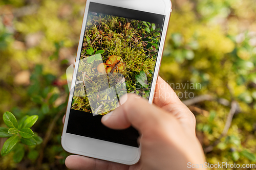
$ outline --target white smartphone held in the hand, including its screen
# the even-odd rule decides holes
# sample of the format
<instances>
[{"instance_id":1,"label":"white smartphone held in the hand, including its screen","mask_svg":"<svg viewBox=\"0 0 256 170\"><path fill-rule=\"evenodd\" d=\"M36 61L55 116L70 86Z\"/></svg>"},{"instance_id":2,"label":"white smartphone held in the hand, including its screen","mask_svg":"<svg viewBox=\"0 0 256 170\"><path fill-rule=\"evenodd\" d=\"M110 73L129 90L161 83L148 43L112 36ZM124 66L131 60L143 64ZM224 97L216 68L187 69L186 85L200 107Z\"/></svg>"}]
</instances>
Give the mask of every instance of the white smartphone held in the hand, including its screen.
<instances>
[{"instance_id":1,"label":"white smartphone held in the hand, including its screen","mask_svg":"<svg viewBox=\"0 0 256 170\"><path fill-rule=\"evenodd\" d=\"M135 164L139 133L112 130L101 117L136 93L151 104L172 3L170 0L87 0L61 144L67 152Z\"/></svg>"}]
</instances>

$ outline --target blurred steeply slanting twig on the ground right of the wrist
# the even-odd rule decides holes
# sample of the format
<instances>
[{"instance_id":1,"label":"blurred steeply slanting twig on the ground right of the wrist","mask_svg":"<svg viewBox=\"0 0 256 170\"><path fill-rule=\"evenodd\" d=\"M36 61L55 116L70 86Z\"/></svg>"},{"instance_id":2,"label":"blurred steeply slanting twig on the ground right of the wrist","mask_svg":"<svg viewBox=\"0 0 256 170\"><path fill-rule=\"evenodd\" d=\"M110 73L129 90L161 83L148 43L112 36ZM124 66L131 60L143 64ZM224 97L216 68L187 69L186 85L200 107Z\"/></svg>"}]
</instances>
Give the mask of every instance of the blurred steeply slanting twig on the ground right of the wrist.
<instances>
[{"instance_id":1,"label":"blurred steeply slanting twig on the ground right of the wrist","mask_svg":"<svg viewBox=\"0 0 256 170\"><path fill-rule=\"evenodd\" d=\"M223 136L226 136L226 134L227 134L227 132L228 132L228 130L229 130L229 128L230 128L230 125L231 125L231 122L232 122L234 113L236 113L237 106L238 106L238 104L237 104L236 101L232 101L232 102L231 102L231 108L230 108L230 111L229 111L228 116L227 116L226 124L225 124L225 127L224 127L224 129L223 129L223 131L222 131L220 137L219 137L214 143L212 143L212 145L210 145L210 146L208 146L207 148L204 149L204 152L205 152L205 153L211 152L211 151L214 149L214 147L215 147L217 144L220 143L221 138L222 138Z\"/></svg>"}]
</instances>

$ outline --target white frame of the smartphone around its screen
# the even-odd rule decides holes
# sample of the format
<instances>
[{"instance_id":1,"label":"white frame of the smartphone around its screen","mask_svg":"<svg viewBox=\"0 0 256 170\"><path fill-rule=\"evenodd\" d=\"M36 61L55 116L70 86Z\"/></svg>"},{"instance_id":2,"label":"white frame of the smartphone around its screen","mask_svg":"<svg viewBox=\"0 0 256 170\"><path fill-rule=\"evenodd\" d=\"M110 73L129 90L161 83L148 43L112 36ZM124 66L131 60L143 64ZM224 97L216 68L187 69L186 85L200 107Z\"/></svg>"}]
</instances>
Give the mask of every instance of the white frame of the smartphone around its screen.
<instances>
[{"instance_id":1,"label":"white frame of the smartphone around its screen","mask_svg":"<svg viewBox=\"0 0 256 170\"><path fill-rule=\"evenodd\" d=\"M167 34L167 28L169 24L170 13L172 12L172 3L170 0L87 0L86 8L84 10L81 34L79 45L77 48L77 56L76 61L80 59L80 51L81 51L81 43L83 42L83 33L86 28L87 22L87 15L89 11L89 4L90 2L105 4L105 5L112 5L122 8L128 8L133 10L151 12L156 14L165 15L164 25L163 25L163 32L161 36L161 41L159 45L159 52L156 61L156 67L153 76L152 82L152 90L150 93L150 98L148 102L152 104L154 99L154 93L156 88L156 82L160 70L160 63L163 54L164 42ZM79 62L75 62L74 70L78 69ZM75 78L76 78L76 71L73 73L73 79L71 83L71 89L74 89L75 86ZM61 136L61 145L62 148L72 154L102 159L111 162L117 162L127 165L135 164L140 159L140 148L130 147L128 145L98 140L89 137L83 137L79 135L69 134L66 133L69 113L71 109L72 103L72 96L73 91L70 91L69 94L69 101L68 107L66 111L65 123L63 125L62 136Z\"/></svg>"}]
</instances>

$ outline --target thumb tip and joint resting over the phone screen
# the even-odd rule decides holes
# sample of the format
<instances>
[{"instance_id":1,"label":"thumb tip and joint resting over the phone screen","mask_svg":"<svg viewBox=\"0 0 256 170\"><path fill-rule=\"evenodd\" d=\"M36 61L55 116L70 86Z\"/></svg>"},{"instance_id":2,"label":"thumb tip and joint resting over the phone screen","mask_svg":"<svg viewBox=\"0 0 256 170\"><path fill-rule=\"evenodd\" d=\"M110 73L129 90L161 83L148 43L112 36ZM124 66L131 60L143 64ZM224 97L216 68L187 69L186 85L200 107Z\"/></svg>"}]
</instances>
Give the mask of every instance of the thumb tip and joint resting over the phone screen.
<instances>
[{"instance_id":1,"label":"thumb tip and joint resting over the phone screen","mask_svg":"<svg viewBox=\"0 0 256 170\"><path fill-rule=\"evenodd\" d=\"M161 124L162 116L169 116L166 111L150 105L136 94L127 94L127 100L109 114L102 117L101 122L112 129L126 129L131 125L140 133ZM161 118L160 118L161 117Z\"/></svg>"}]
</instances>

